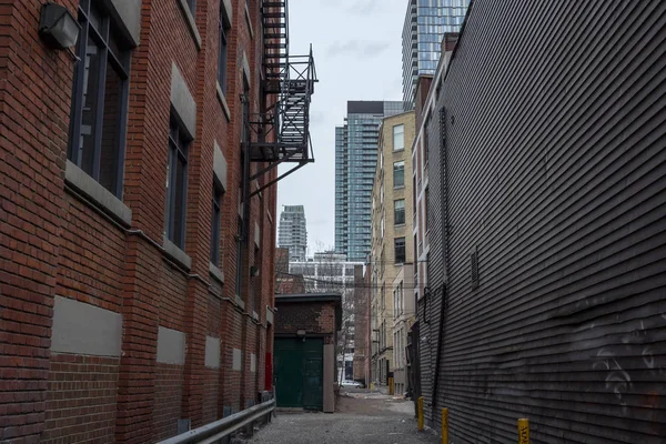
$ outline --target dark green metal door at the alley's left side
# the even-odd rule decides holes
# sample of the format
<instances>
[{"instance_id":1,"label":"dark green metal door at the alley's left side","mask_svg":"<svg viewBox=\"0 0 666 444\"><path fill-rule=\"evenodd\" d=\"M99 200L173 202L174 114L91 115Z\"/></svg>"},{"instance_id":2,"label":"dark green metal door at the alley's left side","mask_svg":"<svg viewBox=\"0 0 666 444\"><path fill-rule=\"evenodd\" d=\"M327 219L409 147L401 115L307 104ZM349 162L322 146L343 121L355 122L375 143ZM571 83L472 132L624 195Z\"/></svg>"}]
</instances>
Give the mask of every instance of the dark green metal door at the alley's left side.
<instances>
[{"instance_id":1,"label":"dark green metal door at the alley's left side","mask_svg":"<svg viewBox=\"0 0 666 444\"><path fill-rule=\"evenodd\" d=\"M279 407L322 410L322 339L275 337L275 394Z\"/></svg>"}]
</instances>

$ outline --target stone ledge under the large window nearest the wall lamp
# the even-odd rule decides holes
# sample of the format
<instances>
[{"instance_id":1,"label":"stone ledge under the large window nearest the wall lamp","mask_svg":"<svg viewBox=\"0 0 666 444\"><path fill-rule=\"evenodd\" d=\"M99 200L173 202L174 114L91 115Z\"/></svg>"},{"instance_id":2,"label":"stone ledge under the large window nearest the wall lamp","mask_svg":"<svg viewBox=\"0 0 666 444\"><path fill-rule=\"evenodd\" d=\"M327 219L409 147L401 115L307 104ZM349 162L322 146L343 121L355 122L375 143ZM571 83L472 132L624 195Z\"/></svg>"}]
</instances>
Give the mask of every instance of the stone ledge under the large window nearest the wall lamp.
<instances>
[{"instance_id":1,"label":"stone ledge under the large window nearest the wall lamp","mask_svg":"<svg viewBox=\"0 0 666 444\"><path fill-rule=\"evenodd\" d=\"M109 190L92 179L77 164L67 161L64 180L74 189L85 194L98 208L110 214L125 226L132 225L132 210Z\"/></svg>"}]
</instances>

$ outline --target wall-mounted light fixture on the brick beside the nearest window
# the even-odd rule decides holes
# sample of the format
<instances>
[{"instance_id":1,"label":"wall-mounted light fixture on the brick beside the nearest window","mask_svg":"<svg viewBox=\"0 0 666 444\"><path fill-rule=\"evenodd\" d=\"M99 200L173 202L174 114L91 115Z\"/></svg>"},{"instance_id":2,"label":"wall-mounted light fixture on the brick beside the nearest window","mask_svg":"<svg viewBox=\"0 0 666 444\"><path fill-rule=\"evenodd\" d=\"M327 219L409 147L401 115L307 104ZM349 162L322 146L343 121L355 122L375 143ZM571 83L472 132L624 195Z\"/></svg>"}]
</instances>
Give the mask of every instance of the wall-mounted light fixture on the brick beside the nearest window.
<instances>
[{"instance_id":1,"label":"wall-mounted light fixture on the brick beside the nearest window","mask_svg":"<svg viewBox=\"0 0 666 444\"><path fill-rule=\"evenodd\" d=\"M53 2L42 4L39 34L51 48L70 49L77 44L81 26L63 6Z\"/></svg>"}]
</instances>

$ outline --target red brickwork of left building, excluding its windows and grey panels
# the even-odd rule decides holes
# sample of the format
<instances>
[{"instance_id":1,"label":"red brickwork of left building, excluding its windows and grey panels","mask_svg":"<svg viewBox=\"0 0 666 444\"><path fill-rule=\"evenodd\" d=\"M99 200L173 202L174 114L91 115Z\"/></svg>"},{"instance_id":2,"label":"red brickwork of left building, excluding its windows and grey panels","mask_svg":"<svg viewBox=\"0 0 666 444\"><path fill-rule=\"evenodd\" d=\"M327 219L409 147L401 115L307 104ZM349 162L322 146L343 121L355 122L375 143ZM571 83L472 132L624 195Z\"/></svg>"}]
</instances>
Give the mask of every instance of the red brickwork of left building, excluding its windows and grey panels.
<instances>
[{"instance_id":1,"label":"red brickwork of left building, excluding its windows and grey panels","mask_svg":"<svg viewBox=\"0 0 666 444\"><path fill-rule=\"evenodd\" d=\"M250 2L253 38L244 2L233 2L226 93L232 119L228 121L215 97L219 0L198 2L200 50L176 1L143 0L141 43L132 51L125 137L123 202L132 210L130 232L65 189L74 64L69 53L47 49L39 40L41 3L0 0L0 441L167 437L175 433L179 418L201 425L220 417L224 406L248 405L264 387L264 357L272 347L272 337L266 343L265 307L274 306L275 284L274 186L251 203L250 240L255 222L261 231L255 278L259 321L251 319L246 291L252 259L242 273L245 291L240 296L246 306L234 302L240 49L252 71L251 103L256 112L262 53L259 2ZM75 14L75 0L59 3ZM189 158L185 252L192 259L190 271L179 269L158 248L164 219L172 61L196 101L198 113ZM220 263L225 283L215 283L213 294L208 268L215 141L228 161L229 189L223 198ZM266 180L274 176L275 171ZM122 356L51 356L56 294L122 314ZM157 364L160 325L185 333L184 365ZM206 334L221 339L219 371L204 367ZM243 351L241 371L232 371L233 349ZM251 353L256 355L254 374ZM89 413L75 413L84 407ZM104 412L103 418L98 411Z\"/></svg>"}]
</instances>

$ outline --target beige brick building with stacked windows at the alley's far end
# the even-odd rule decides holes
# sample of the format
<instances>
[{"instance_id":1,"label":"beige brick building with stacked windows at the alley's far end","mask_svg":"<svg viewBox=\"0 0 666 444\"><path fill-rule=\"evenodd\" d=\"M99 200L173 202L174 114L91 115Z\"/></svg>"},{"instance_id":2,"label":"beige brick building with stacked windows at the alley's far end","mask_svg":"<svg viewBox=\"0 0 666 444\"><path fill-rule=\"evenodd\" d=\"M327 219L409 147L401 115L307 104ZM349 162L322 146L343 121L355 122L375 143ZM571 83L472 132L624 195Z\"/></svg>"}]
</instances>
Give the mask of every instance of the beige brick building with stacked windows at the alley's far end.
<instances>
[{"instance_id":1,"label":"beige brick building with stacked windows at the alley's far end","mask_svg":"<svg viewBox=\"0 0 666 444\"><path fill-rule=\"evenodd\" d=\"M380 129L377 168L372 192L371 325L372 381L387 383L395 369L393 286L398 275L408 276L403 287L411 290L413 272L403 272L413 261L412 238L412 143L413 111L386 118ZM413 310L412 310L413 311ZM402 324L401 324L402 325Z\"/></svg>"}]
</instances>

